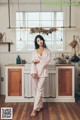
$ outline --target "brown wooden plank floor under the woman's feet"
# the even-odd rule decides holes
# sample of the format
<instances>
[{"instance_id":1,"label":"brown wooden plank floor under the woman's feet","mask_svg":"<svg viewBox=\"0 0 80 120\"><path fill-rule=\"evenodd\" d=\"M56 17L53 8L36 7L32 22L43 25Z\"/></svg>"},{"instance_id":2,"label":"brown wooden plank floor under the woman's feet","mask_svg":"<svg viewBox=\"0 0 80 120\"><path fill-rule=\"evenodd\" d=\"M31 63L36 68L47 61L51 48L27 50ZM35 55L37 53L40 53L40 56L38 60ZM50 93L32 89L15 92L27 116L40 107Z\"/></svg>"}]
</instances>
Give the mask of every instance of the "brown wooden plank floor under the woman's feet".
<instances>
[{"instance_id":1,"label":"brown wooden plank floor under the woman's feet","mask_svg":"<svg viewBox=\"0 0 80 120\"><path fill-rule=\"evenodd\" d=\"M13 120L80 120L80 101L44 103L44 109L38 112L36 117L30 117L33 103L5 103L4 97L0 96L1 107L13 108Z\"/></svg>"}]
</instances>

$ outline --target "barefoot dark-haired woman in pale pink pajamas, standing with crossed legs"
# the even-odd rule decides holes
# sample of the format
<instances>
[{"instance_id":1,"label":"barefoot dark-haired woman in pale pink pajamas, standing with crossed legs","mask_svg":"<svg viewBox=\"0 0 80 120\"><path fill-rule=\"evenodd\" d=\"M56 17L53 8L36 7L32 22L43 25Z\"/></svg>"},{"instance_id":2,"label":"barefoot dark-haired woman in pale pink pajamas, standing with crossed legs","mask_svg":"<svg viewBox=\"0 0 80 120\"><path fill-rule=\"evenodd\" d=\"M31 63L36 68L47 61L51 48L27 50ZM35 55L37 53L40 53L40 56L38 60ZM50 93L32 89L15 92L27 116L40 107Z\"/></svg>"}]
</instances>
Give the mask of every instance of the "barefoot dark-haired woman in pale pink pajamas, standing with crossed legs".
<instances>
[{"instance_id":1,"label":"barefoot dark-haired woman in pale pink pajamas, standing with crossed legs","mask_svg":"<svg viewBox=\"0 0 80 120\"><path fill-rule=\"evenodd\" d=\"M34 80L35 101L31 116L43 108L42 96L45 78L47 77L47 65L51 59L51 52L46 47L45 40L41 35L35 37L35 50L32 55L31 76Z\"/></svg>"}]
</instances>

